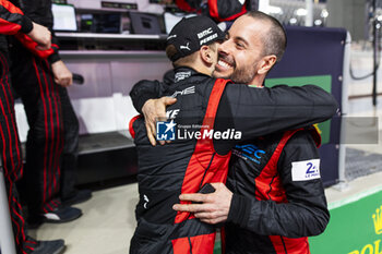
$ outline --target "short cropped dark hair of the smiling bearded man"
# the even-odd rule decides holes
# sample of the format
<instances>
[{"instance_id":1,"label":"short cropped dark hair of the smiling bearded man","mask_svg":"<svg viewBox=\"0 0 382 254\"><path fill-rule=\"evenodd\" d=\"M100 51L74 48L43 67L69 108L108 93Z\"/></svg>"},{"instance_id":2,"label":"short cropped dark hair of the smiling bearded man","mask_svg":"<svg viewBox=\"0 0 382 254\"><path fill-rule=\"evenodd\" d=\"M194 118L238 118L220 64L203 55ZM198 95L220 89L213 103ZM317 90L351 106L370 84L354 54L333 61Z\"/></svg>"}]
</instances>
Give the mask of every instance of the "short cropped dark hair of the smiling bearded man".
<instances>
[{"instance_id":1,"label":"short cropped dark hair of the smiling bearded man","mask_svg":"<svg viewBox=\"0 0 382 254\"><path fill-rule=\"evenodd\" d=\"M267 15L260 11L250 11L244 15L251 16L255 20L267 21L271 27L266 36L263 38L264 56L275 55L277 62L282 60L287 45L287 37L283 25L275 17Z\"/></svg>"}]
</instances>

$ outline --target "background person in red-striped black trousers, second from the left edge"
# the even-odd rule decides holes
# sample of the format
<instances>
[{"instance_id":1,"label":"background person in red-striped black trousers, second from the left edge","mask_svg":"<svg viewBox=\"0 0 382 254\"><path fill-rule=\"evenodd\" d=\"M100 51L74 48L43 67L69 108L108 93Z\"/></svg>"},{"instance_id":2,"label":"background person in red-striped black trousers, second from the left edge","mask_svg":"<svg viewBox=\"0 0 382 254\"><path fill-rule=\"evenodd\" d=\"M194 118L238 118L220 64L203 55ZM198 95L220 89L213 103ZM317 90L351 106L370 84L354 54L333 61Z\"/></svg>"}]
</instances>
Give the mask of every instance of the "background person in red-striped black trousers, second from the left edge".
<instances>
[{"instance_id":1,"label":"background person in red-striped black trousers, second from the left edge","mask_svg":"<svg viewBox=\"0 0 382 254\"><path fill-rule=\"evenodd\" d=\"M50 0L21 1L20 5L34 22L52 28ZM74 189L79 122L65 88L72 84L72 73L60 60L56 44L53 48L47 60L16 40L10 50L12 83L29 125L21 194L28 206L28 221L36 226L79 218L81 210L69 205L91 197L89 191Z\"/></svg>"}]
</instances>

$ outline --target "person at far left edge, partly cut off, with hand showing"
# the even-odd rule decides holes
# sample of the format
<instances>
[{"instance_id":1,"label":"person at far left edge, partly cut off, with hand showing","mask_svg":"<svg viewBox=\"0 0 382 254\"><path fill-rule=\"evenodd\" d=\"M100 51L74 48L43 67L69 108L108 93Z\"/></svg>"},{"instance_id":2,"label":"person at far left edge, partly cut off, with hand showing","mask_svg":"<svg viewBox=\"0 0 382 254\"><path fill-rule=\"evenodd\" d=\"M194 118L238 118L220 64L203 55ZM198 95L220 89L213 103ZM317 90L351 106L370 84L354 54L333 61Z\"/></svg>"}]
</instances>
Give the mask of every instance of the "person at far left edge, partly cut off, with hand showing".
<instances>
[{"instance_id":1,"label":"person at far left edge, partly cut off, with hand showing","mask_svg":"<svg viewBox=\"0 0 382 254\"><path fill-rule=\"evenodd\" d=\"M50 32L24 16L11 2L0 0L0 157L4 170L9 207L17 254L58 254L64 249L63 240L36 241L27 237L22 208L19 203L16 182L23 174L23 158L14 114L11 93L8 41L3 35L29 37L35 41L35 50L50 49Z\"/></svg>"}]
</instances>

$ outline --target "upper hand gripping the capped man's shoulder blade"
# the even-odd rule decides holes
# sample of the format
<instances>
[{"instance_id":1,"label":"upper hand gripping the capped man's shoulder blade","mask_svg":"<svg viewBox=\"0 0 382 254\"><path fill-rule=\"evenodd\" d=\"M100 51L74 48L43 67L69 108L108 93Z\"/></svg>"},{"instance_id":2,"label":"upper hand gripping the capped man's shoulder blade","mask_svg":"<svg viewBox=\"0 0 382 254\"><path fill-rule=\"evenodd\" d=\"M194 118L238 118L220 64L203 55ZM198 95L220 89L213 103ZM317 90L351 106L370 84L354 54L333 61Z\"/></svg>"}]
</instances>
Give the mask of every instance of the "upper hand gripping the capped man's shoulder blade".
<instances>
[{"instance_id":1,"label":"upper hand gripping the capped man's shoulder blade","mask_svg":"<svg viewBox=\"0 0 382 254\"><path fill-rule=\"evenodd\" d=\"M156 145L156 121L166 120L166 107L175 104L176 98L162 97L159 99L148 99L142 107L142 112L144 116L147 137L150 143ZM164 141L159 141L160 145L164 145Z\"/></svg>"}]
</instances>

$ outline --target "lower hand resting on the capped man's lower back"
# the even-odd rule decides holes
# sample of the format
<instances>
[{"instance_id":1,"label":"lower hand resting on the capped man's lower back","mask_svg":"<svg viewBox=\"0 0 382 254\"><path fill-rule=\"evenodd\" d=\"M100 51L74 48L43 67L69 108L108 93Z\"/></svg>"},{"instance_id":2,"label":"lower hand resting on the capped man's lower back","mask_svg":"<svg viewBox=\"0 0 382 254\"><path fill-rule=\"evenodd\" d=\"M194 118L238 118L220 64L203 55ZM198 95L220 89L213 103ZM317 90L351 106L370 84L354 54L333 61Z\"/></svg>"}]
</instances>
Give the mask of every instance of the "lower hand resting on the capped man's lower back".
<instances>
[{"instance_id":1,"label":"lower hand resting on the capped man's lower back","mask_svg":"<svg viewBox=\"0 0 382 254\"><path fill-rule=\"evenodd\" d=\"M228 218L232 193L224 183L211 183L215 192L211 194L181 194L181 201L202 202L203 204L176 204L172 206L178 211L193 213L196 218L206 223L225 222Z\"/></svg>"}]
</instances>

